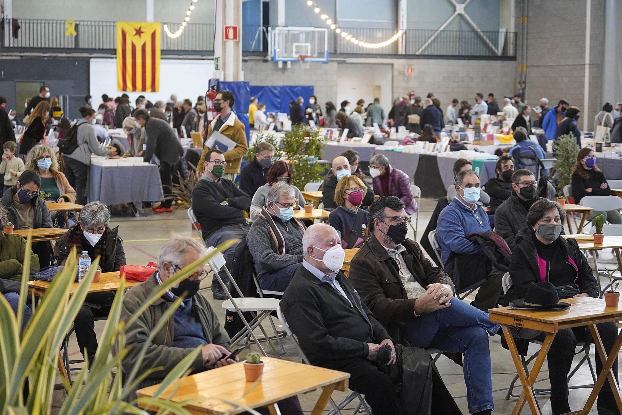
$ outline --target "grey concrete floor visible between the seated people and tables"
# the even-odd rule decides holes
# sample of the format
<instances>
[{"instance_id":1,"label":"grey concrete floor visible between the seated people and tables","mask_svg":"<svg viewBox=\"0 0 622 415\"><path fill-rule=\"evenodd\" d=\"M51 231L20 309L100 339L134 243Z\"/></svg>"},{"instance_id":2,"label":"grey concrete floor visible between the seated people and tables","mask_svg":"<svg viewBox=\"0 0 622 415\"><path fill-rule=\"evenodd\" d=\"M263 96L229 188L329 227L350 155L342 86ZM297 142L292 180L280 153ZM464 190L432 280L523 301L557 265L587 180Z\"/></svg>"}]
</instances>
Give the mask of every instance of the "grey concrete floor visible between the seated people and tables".
<instances>
[{"instance_id":1,"label":"grey concrete floor visible between the seated people and tables","mask_svg":"<svg viewBox=\"0 0 622 415\"><path fill-rule=\"evenodd\" d=\"M436 200L432 199L422 199L421 208L419 213L419 226L418 226L418 234L423 233L425 226L429 221L430 215L434 211L434 207L436 205ZM193 236L196 237L196 233L190 229L190 223L188 222L188 218L186 215L186 210L184 208L179 208L175 210L172 214L155 214L152 213L151 210L147 212L147 217L142 218L127 218L127 217L114 217L111 221L111 227L119 225L119 235L124 239L124 248L126 253L126 258L128 264L146 264L149 261L155 261L157 259L158 253L162 245L164 245L164 241L174 235L185 235L185 236ZM409 229L408 238L412 238L412 230ZM606 256L605 254L602 254ZM202 291L203 295L208 299L210 304L216 310L218 317L221 322L224 321L225 310L222 308L222 301L214 300L211 297L210 289L206 289ZM474 297L474 294L471 294L470 299ZM278 320L275 319L275 324L279 325ZM95 322L96 331L101 333L103 330L104 322ZM269 324L264 325L266 329L269 329ZM292 361L300 361L300 356L297 353L297 350L290 339L283 340L284 347L287 351L283 356L287 360ZM530 352L536 352L539 347L536 345L532 345ZM254 350L257 350L257 347L253 346ZM269 354L272 353L272 350L266 348ZM509 386L509 382L512 380L514 375L516 375L516 369L514 368L513 362L511 360L510 354L508 350L501 347L501 338L499 336L494 336L490 338L490 351L492 357L492 373L493 373L493 396L494 396L494 404L496 414L511 414L514 408L514 404L517 401L517 398L510 398L509 401L505 399L506 392ZM70 355L76 359L80 358L80 353L78 352L77 342L75 341L75 337L72 336L70 344L69 344L69 352ZM592 361L594 361L594 352L592 349L591 352ZM576 358L575 361L578 361L579 358ZM443 376L443 380L447 384L448 389L452 393L452 396L455 398L460 409L464 414L468 414L468 406L466 402L466 388L464 383L464 378L462 375L462 367L450 361L447 357L440 357L436 363L437 368L441 375ZM572 378L571 385L583 385L586 383L592 383L592 378L590 376L590 371L588 370L587 365L583 365L582 368L578 371L578 373ZM544 365L542 371L539 375L537 386L541 388L548 388L548 371L547 366ZM515 388L515 393L519 393L520 389ZM577 411L578 409L583 408L583 404L587 399L588 394L591 389L583 388L583 389L571 389L570 390L570 407L573 411ZM302 408L305 410L305 413L310 413L313 408L313 404L319 397L320 391L314 391L304 396L300 396L300 401L302 403ZM344 398L347 393L335 392L333 393L333 398L335 401L339 401ZM57 400L56 404L62 402L63 394L61 391L57 391ZM543 414L549 414L550 412L550 404L549 397L547 395L541 396L539 399L539 404L542 408ZM353 408L353 404L350 404L348 408ZM351 412L351 410L350 410ZM343 411L344 414L350 413L348 411ZM529 408L526 406L522 411L523 414L529 413ZM596 414L596 409L592 409L590 414Z\"/></svg>"}]
</instances>

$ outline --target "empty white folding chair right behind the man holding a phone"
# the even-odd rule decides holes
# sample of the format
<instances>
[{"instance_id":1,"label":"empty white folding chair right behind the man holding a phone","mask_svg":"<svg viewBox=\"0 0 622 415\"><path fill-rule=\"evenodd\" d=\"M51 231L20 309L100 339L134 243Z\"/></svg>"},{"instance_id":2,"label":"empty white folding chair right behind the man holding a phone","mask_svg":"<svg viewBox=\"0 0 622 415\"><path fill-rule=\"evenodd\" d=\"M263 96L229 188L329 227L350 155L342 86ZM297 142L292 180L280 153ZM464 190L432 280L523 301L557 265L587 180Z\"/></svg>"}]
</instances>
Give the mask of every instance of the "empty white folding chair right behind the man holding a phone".
<instances>
[{"instance_id":1,"label":"empty white folding chair right behind the man holding a phone","mask_svg":"<svg viewBox=\"0 0 622 415\"><path fill-rule=\"evenodd\" d=\"M213 248L212 246L207 248L208 252L215 251L215 249L216 248ZM223 287L226 296L229 298L228 300L223 302L223 309L226 309L230 312L237 312L239 318L244 323L244 329L240 330L236 335L233 336L233 338L231 338L231 344L233 345L238 343L239 340L244 337L246 337L246 342L248 342L250 338L253 338L254 342L259 347L259 350L261 350L261 354L267 356L266 350L264 350L261 343L259 342L259 339L253 331L257 327L259 327L259 330L261 330L261 332L264 334L264 337L266 338L266 342L270 345L272 350L274 350L274 354L277 355L277 357L281 358L281 353L285 353L285 348L281 344L281 338L279 338L279 334L277 333L276 327L274 327L274 322L272 322L271 318L271 312L275 311L277 307L279 307L279 300L274 298L244 297L242 291L238 287L238 284L235 282L235 280L231 276L231 273L229 272L229 269L226 267L225 256L223 256L223 254L220 252L216 253L213 257L211 257L211 259L208 261L208 265L210 266L211 271L214 273L214 276L216 276L216 279L218 279L220 285ZM231 296L231 292L229 292L227 284L225 284L225 282L223 282L222 278L220 277L219 272L221 271L221 269L225 270L225 273L229 277L229 281L231 281L231 284L233 284L233 287L238 292L239 297ZM248 322L244 318L244 312L251 313L251 315L253 315L253 320ZM276 347L274 347L274 344L272 344L272 340L270 340L270 337L267 335L266 330L264 330L263 326L261 325L261 322L266 318L272 325L272 329L274 330L274 334L277 337L279 346L281 346L281 353L276 350Z\"/></svg>"}]
</instances>

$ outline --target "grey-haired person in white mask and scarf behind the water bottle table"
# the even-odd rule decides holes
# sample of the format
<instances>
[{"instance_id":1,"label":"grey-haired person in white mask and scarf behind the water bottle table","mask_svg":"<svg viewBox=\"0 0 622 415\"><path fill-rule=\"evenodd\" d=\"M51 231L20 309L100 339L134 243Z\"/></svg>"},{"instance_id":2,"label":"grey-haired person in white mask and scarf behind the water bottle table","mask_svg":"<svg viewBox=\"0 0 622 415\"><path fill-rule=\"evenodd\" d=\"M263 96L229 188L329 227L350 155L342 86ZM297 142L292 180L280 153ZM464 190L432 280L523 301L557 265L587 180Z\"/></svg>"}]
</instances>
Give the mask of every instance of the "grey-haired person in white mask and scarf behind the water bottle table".
<instances>
[{"instance_id":1,"label":"grey-haired person in white mask and scarf behind the water bottle table","mask_svg":"<svg viewBox=\"0 0 622 415\"><path fill-rule=\"evenodd\" d=\"M99 266L103 273L119 271L126 264L123 240L119 236L119 226L110 229L110 212L100 202L87 203L80 212L78 223L60 236L54 245L57 265L65 263L67 256L75 248L80 256L88 253L91 261L100 258ZM75 319L76 338L80 352L93 361L97 351L95 317L106 317L113 303L114 292L94 292L86 296L86 301Z\"/></svg>"}]
</instances>

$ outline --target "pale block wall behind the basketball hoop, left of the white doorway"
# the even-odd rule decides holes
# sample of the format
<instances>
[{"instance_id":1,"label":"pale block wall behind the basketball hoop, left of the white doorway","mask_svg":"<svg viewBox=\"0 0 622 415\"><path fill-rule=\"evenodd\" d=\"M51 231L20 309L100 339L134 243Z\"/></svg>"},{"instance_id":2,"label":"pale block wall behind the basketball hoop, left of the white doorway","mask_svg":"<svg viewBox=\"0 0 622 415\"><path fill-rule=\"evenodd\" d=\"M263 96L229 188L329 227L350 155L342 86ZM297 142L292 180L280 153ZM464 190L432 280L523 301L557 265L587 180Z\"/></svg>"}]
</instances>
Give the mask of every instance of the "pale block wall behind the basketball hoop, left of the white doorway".
<instances>
[{"instance_id":1,"label":"pale block wall behind the basketball hoop, left of the white doorway","mask_svg":"<svg viewBox=\"0 0 622 415\"><path fill-rule=\"evenodd\" d=\"M251 85L313 85L313 91L320 101L337 99L337 62L312 62L308 69L299 67L298 62L292 62L292 67L279 69L276 62L262 62L249 60L242 63L244 80ZM307 97L305 96L305 101ZM337 105L337 103L335 103Z\"/></svg>"}]
</instances>

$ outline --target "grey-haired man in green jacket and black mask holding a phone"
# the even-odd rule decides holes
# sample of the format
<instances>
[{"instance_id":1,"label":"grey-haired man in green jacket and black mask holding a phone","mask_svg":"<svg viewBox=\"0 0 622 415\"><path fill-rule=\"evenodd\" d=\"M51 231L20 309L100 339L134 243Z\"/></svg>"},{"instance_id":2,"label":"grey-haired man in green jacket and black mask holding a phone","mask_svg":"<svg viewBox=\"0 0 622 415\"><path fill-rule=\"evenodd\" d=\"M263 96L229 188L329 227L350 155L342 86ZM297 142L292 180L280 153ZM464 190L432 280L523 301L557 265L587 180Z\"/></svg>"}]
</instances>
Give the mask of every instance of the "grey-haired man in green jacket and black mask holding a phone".
<instances>
[{"instance_id":1,"label":"grey-haired man in green jacket and black mask holding a phone","mask_svg":"<svg viewBox=\"0 0 622 415\"><path fill-rule=\"evenodd\" d=\"M168 240L160 249L157 271L147 281L132 287L124 296L121 320L126 323L131 320L157 286L206 254L205 246L193 238L175 236ZM201 347L201 353L190 365L192 374L234 365L239 361L238 357L228 358L231 354L230 338L218 321L214 309L205 297L198 294L200 283L205 277L207 277L205 264L197 266L195 273L167 290L126 327L126 345L130 348L130 352L121 363L124 373L131 373L136 368L137 358L145 342L149 342L149 346L137 373L158 368L136 385L136 389L129 391L128 399L136 399L137 389L161 383L175 365L197 347ZM182 304L169 318L165 327L159 330L154 338L149 339L150 333L162 319L165 310L180 296L184 297ZM302 415L300 403L295 396L279 401L278 404L283 414ZM268 413L267 408L261 408L259 412Z\"/></svg>"}]
</instances>

